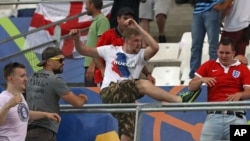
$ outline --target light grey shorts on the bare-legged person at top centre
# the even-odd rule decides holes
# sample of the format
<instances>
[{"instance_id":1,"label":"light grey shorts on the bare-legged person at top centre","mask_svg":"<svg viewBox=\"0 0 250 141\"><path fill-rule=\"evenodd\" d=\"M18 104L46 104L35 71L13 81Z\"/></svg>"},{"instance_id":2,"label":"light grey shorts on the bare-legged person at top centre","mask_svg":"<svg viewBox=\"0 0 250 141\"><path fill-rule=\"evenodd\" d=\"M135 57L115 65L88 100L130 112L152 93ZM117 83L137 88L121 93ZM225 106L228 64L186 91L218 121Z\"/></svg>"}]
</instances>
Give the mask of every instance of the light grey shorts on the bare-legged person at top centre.
<instances>
[{"instance_id":1,"label":"light grey shorts on the bare-legged person at top centre","mask_svg":"<svg viewBox=\"0 0 250 141\"><path fill-rule=\"evenodd\" d=\"M172 0L147 0L140 3L139 18L153 20L158 14L168 14Z\"/></svg>"}]
</instances>

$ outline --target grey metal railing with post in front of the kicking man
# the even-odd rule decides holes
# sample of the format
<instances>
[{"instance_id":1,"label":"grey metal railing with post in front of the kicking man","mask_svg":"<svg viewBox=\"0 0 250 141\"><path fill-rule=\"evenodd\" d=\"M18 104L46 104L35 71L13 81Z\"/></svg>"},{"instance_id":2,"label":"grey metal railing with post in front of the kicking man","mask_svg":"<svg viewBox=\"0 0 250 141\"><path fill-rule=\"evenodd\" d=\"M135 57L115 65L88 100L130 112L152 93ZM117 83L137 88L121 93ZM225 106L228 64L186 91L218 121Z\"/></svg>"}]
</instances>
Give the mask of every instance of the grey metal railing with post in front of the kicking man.
<instances>
[{"instance_id":1,"label":"grey metal railing with post in front of the kicking man","mask_svg":"<svg viewBox=\"0 0 250 141\"><path fill-rule=\"evenodd\" d=\"M145 112L185 112L204 110L246 110L250 109L250 101L237 102L196 102L196 103L130 103L130 104L86 104L81 108L71 105L60 105L60 112L121 113L136 112L134 141L140 141L141 117Z\"/></svg>"}]
</instances>

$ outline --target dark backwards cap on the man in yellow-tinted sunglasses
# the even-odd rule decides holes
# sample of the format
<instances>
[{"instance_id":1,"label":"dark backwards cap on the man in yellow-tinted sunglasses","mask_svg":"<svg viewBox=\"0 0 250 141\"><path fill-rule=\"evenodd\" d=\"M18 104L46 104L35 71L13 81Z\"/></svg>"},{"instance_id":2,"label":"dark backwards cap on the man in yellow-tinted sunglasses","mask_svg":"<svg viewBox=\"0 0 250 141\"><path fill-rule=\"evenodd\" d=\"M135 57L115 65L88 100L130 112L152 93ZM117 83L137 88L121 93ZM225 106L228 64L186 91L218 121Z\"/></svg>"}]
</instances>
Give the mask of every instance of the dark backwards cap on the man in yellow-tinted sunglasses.
<instances>
[{"instance_id":1,"label":"dark backwards cap on the man in yellow-tinted sunglasses","mask_svg":"<svg viewBox=\"0 0 250 141\"><path fill-rule=\"evenodd\" d=\"M48 47L42 53L42 61L37 64L37 66L42 67L45 65L46 61L57 55L61 55L63 52L58 47Z\"/></svg>"}]
</instances>

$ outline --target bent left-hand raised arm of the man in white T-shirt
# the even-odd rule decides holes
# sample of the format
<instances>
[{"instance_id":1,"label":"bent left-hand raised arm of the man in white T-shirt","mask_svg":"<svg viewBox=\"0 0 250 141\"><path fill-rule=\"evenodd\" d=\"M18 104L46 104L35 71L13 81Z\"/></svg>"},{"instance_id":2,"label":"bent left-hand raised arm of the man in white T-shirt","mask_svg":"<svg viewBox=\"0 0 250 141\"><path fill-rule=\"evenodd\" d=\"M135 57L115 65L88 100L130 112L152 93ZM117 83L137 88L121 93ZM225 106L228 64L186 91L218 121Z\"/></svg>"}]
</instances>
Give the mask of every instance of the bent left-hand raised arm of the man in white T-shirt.
<instances>
[{"instance_id":1,"label":"bent left-hand raised arm of the man in white T-shirt","mask_svg":"<svg viewBox=\"0 0 250 141\"><path fill-rule=\"evenodd\" d=\"M90 57L100 57L98 55L97 49L87 47L81 40L80 40L80 30L79 29L71 29L69 35L74 39L75 48L81 54Z\"/></svg>"}]
</instances>

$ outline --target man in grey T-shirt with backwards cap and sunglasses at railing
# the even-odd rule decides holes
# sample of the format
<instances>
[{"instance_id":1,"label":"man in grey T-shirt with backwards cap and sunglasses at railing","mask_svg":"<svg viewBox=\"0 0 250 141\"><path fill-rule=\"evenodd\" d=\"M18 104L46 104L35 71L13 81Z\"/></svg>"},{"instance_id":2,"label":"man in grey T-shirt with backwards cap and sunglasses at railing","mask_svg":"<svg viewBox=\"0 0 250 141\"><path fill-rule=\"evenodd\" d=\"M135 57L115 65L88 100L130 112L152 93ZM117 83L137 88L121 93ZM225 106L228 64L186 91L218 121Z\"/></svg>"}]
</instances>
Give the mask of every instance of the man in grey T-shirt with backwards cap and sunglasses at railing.
<instances>
[{"instance_id":1,"label":"man in grey T-shirt with backwards cap and sunglasses at railing","mask_svg":"<svg viewBox=\"0 0 250 141\"><path fill-rule=\"evenodd\" d=\"M27 82L26 99L34 111L60 112L59 99L62 98L74 107L81 107L87 96L74 94L66 82L57 74L63 72L64 55L57 47L48 47L42 53L43 67L35 72ZM34 120L29 123L26 141L55 141L59 123L48 119Z\"/></svg>"}]
</instances>

